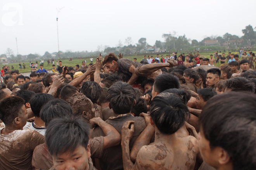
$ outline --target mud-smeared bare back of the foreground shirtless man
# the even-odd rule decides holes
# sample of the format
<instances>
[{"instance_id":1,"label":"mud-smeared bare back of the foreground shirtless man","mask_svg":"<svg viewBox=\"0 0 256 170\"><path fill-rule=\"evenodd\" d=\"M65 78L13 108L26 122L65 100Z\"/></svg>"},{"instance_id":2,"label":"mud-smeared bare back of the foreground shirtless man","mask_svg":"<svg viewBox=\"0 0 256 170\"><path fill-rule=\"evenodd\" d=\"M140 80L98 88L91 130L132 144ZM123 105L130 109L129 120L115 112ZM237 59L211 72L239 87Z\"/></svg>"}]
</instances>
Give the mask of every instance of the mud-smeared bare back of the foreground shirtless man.
<instances>
[{"instance_id":1,"label":"mud-smeared bare back of the foreground shirtless man","mask_svg":"<svg viewBox=\"0 0 256 170\"><path fill-rule=\"evenodd\" d=\"M198 153L197 139L193 136L176 138L172 144L159 141L140 149L134 167L138 170L193 170Z\"/></svg>"}]
</instances>

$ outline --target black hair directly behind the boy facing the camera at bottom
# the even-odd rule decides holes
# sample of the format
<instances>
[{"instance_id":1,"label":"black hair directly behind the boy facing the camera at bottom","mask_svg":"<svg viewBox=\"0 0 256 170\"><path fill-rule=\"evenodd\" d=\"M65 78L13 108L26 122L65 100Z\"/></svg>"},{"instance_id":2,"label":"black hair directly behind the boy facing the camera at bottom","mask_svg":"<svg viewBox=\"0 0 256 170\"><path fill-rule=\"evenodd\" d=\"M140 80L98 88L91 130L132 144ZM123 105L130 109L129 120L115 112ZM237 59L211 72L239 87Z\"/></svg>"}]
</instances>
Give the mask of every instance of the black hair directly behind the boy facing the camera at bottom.
<instances>
[{"instance_id":1,"label":"black hair directly behind the boy facing the camera at bottom","mask_svg":"<svg viewBox=\"0 0 256 170\"><path fill-rule=\"evenodd\" d=\"M71 117L73 115L72 107L62 99L53 99L43 105L40 110L40 118L45 125L55 118Z\"/></svg>"}]
</instances>

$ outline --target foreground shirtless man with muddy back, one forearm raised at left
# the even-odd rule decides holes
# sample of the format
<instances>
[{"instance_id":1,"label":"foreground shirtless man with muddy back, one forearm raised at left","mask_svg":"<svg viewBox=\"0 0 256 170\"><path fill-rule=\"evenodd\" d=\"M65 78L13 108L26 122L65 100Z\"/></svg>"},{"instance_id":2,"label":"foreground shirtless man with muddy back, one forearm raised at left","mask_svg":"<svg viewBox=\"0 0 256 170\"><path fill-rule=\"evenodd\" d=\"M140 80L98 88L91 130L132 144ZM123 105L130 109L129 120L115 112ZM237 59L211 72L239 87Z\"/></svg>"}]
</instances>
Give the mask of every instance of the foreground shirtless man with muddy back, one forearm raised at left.
<instances>
[{"instance_id":1,"label":"foreground shirtless man with muddy back, one forearm raised at left","mask_svg":"<svg viewBox=\"0 0 256 170\"><path fill-rule=\"evenodd\" d=\"M156 96L150 105L150 124L155 128L155 141L139 150L135 164L129 151L133 121L124 124L121 135L124 170L194 169L199 155L197 139L193 136L179 138L176 134L189 110L180 97L163 93L166 94Z\"/></svg>"}]
</instances>

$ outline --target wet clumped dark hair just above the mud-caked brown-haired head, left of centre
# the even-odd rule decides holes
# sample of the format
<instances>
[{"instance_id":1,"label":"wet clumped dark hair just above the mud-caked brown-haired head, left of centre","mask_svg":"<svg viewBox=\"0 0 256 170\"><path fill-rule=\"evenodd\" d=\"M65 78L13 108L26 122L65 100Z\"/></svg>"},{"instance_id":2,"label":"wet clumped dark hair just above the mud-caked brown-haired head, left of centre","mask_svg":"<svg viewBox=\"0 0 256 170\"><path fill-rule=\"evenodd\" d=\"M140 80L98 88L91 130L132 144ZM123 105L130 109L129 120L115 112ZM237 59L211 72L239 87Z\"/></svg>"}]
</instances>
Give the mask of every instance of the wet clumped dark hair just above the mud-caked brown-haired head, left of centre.
<instances>
[{"instance_id":1,"label":"wet clumped dark hair just above the mud-caked brown-haired head, left of centre","mask_svg":"<svg viewBox=\"0 0 256 170\"><path fill-rule=\"evenodd\" d=\"M97 100L100 98L101 87L97 82L83 82L80 93L86 95L92 103L97 103Z\"/></svg>"}]
</instances>

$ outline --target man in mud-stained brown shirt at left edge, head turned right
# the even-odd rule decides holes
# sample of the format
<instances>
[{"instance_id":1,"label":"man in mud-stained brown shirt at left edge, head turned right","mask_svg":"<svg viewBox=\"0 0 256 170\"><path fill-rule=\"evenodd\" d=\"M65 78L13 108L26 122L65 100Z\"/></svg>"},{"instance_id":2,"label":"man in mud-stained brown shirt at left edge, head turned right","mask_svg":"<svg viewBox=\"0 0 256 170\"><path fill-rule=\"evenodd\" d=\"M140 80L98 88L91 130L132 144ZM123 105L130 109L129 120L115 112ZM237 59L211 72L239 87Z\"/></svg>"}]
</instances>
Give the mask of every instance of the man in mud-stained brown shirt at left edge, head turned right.
<instances>
[{"instance_id":1,"label":"man in mud-stained brown shirt at left edge, head turned right","mask_svg":"<svg viewBox=\"0 0 256 170\"><path fill-rule=\"evenodd\" d=\"M33 150L44 143L43 135L31 129L23 129L28 112L21 97L8 97L0 102L0 119L5 128L0 128L1 169L33 169Z\"/></svg>"}]
</instances>

